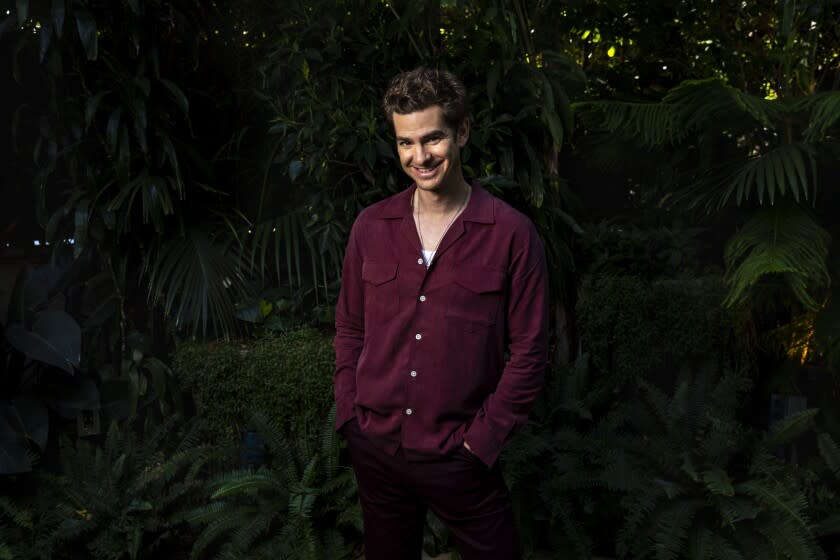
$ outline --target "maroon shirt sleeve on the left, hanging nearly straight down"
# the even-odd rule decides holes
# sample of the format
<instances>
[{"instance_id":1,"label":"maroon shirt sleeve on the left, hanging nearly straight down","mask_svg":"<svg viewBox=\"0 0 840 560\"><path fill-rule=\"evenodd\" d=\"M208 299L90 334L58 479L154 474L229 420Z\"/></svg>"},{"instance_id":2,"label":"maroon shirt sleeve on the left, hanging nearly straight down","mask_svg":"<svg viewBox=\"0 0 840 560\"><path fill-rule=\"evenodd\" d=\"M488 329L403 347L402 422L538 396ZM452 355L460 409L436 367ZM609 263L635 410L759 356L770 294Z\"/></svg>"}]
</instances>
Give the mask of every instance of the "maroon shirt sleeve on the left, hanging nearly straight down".
<instances>
[{"instance_id":1,"label":"maroon shirt sleeve on the left, hanging nearly straight down","mask_svg":"<svg viewBox=\"0 0 840 560\"><path fill-rule=\"evenodd\" d=\"M359 220L353 224L350 240L344 253L341 290L335 308L335 395L336 430L355 416L356 364L365 339L364 287L362 285L362 256L359 252Z\"/></svg>"}]
</instances>

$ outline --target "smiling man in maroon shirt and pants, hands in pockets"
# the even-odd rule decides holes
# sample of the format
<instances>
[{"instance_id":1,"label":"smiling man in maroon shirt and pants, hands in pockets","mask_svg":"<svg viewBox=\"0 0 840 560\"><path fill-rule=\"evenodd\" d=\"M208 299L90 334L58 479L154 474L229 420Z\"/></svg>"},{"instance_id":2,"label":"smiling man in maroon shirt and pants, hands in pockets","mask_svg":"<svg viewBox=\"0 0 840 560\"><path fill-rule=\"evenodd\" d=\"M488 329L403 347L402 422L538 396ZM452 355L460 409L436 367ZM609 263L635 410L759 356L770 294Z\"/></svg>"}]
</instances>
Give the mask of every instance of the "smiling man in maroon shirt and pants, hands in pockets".
<instances>
[{"instance_id":1,"label":"smiling man in maroon shirt and pants, hands in pockets","mask_svg":"<svg viewBox=\"0 0 840 560\"><path fill-rule=\"evenodd\" d=\"M336 424L365 558L419 559L429 508L465 560L515 560L496 459L542 384L542 243L525 216L464 180L467 94L452 74L400 74L383 108L414 184L357 218L336 307Z\"/></svg>"}]
</instances>

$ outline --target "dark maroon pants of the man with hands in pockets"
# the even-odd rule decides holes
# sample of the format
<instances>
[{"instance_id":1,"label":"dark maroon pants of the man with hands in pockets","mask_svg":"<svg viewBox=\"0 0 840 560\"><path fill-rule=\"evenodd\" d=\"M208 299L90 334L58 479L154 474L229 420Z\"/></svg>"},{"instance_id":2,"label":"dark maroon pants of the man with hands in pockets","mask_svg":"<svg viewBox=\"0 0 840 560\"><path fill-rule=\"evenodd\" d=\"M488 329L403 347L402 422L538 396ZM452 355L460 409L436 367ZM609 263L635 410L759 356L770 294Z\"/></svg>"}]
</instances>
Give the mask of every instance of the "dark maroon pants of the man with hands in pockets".
<instances>
[{"instance_id":1,"label":"dark maroon pants of the man with hands in pockets","mask_svg":"<svg viewBox=\"0 0 840 560\"><path fill-rule=\"evenodd\" d=\"M428 507L449 529L463 560L518 560L510 496L496 464L466 449L409 462L376 447L355 420L341 430L359 483L365 560L420 560Z\"/></svg>"}]
</instances>

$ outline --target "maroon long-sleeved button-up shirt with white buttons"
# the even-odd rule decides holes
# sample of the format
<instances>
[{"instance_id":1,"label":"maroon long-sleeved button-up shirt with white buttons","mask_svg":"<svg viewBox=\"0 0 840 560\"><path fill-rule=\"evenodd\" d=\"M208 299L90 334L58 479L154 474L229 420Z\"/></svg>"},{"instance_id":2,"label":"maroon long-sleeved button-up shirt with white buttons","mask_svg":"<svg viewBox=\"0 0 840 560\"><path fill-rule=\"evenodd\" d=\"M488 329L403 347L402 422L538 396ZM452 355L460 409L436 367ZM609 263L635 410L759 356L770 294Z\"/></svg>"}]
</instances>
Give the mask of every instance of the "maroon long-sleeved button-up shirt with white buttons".
<instances>
[{"instance_id":1,"label":"maroon long-sleeved button-up shirt with white buttons","mask_svg":"<svg viewBox=\"0 0 840 560\"><path fill-rule=\"evenodd\" d=\"M355 416L382 449L402 447L411 460L467 441L492 465L542 385L542 242L527 217L474 183L427 269L414 189L365 209L350 232L336 306L336 427Z\"/></svg>"}]
</instances>

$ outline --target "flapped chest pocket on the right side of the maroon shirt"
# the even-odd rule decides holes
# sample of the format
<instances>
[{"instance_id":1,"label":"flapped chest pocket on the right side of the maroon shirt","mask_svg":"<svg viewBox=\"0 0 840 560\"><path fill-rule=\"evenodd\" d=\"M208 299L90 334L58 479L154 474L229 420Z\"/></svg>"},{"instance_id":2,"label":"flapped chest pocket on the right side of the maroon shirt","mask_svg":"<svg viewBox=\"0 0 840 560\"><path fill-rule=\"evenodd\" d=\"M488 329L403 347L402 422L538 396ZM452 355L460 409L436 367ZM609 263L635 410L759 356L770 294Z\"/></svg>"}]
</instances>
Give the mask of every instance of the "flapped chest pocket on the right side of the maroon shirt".
<instances>
[{"instance_id":1,"label":"flapped chest pocket on the right side of the maroon shirt","mask_svg":"<svg viewBox=\"0 0 840 560\"><path fill-rule=\"evenodd\" d=\"M479 265L459 266L450 287L446 318L468 331L496 324L504 296L505 273Z\"/></svg>"}]
</instances>

